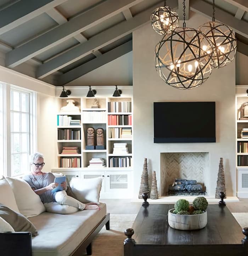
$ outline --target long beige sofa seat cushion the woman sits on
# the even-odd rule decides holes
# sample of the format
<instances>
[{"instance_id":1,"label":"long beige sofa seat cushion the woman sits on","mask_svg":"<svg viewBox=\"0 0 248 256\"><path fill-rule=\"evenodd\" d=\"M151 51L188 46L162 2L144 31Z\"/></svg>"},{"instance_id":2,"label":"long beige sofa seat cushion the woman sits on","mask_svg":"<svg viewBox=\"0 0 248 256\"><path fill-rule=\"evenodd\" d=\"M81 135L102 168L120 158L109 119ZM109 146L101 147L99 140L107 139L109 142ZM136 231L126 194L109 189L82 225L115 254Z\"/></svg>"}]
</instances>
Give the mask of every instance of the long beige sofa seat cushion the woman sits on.
<instances>
[{"instance_id":1,"label":"long beige sofa seat cushion the woman sits on","mask_svg":"<svg viewBox=\"0 0 248 256\"><path fill-rule=\"evenodd\" d=\"M44 212L29 220L39 235L32 239L33 256L68 256L95 229L106 215L106 204L101 210L82 210L62 215Z\"/></svg>"}]
</instances>

